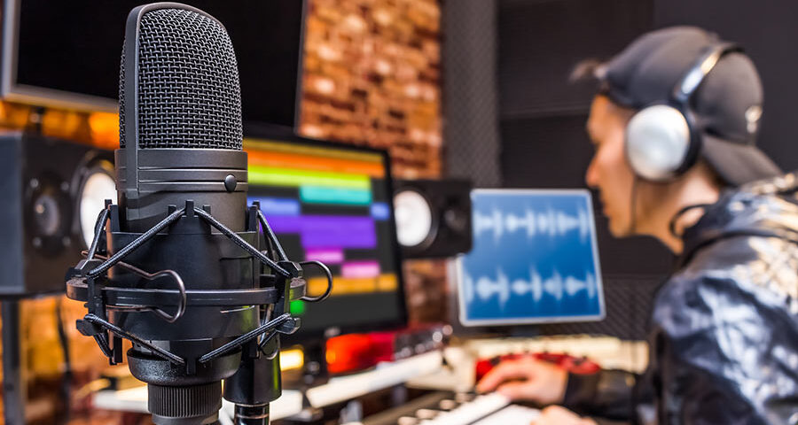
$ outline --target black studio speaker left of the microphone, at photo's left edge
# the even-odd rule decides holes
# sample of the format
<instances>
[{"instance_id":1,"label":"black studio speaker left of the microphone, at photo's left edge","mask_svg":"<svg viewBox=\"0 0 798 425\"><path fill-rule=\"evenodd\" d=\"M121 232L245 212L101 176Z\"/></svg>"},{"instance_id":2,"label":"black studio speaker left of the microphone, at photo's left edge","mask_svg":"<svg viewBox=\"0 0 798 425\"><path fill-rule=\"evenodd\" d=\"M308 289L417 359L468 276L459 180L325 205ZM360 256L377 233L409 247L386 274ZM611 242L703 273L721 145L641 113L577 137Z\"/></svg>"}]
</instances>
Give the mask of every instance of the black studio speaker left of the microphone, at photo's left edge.
<instances>
[{"instance_id":1,"label":"black studio speaker left of the microphone, at photo's left edge","mask_svg":"<svg viewBox=\"0 0 798 425\"><path fill-rule=\"evenodd\" d=\"M112 151L0 133L0 297L64 290L106 198L116 199Z\"/></svg>"}]
</instances>

